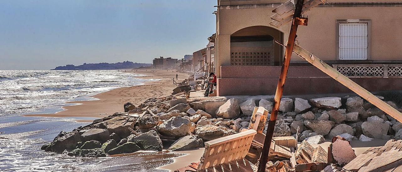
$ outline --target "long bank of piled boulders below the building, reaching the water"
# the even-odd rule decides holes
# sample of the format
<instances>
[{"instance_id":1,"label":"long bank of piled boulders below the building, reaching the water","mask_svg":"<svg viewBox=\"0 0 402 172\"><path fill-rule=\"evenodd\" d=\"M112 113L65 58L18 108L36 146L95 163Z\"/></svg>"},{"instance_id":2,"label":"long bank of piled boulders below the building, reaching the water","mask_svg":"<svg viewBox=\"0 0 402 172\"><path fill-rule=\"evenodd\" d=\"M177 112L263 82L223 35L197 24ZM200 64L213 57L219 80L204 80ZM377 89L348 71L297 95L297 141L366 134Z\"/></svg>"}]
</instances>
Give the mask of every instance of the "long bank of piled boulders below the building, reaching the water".
<instances>
[{"instance_id":1,"label":"long bank of piled boulders below the building, reaching the water","mask_svg":"<svg viewBox=\"0 0 402 172\"><path fill-rule=\"evenodd\" d=\"M42 149L82 157L138 150L188 150L203 147L204 141L247 129L255 106L271 110L272 105L265 99L244 102L224 97L187 99L185 94L150 98L139 106L124 104L124 113L96 119L69 133L62 131ZM402 134L401 123L359 97L283 98L279 110L274 137L295 137L297 128L298 141L311 144L336 135L368 141L399 138Z\"/></svg>"}]
</instances>

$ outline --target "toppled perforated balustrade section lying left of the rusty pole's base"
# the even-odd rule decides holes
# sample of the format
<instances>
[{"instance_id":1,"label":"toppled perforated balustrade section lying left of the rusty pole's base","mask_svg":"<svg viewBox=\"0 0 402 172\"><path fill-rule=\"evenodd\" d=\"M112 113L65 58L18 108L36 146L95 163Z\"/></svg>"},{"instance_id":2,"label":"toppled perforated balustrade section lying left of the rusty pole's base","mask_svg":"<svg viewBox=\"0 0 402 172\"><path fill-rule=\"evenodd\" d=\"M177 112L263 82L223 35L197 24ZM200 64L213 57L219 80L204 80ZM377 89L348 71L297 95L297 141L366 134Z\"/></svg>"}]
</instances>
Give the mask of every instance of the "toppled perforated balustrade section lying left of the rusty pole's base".
<instances>
[{"instance_id":1,"label":"toppled perforated balustrade section lying left of the rusty pole's base","mask_svg":"<svg viewBox=\"0 0 402 172\"><path fill-rule=\"evenodd\" d=\"M244 160L248 153L255 130L247 130L234 135L205 142L205 151L198 166L199 171L216 171L229 169L232 171L254 171L256 167ZM238 166L238 164L240 164ZM237 168L235 168L237 166Z\"/></svg>"}]
</instances>

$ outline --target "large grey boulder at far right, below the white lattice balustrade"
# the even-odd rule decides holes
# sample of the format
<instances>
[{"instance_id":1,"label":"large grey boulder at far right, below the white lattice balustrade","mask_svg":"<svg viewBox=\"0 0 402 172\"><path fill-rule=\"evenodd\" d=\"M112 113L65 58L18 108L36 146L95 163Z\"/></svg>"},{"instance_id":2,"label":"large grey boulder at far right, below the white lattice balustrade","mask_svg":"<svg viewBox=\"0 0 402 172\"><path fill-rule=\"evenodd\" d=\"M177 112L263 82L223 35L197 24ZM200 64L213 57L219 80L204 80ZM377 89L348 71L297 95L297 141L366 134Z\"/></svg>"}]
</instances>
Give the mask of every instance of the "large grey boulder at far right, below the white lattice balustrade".
<instances>
[{"instance_id":1,"label":"large grey boulder at far right, below the white lattice balustrade","mask_svg":"<svg viewBox=\"0 0 402 172\"><path fill-rule=\"evenodd\" d=\"M361 124L361 129L365 136L379 139L387 135L390 125L377 122L364 122Z\"/></svg>"}]
</instances>

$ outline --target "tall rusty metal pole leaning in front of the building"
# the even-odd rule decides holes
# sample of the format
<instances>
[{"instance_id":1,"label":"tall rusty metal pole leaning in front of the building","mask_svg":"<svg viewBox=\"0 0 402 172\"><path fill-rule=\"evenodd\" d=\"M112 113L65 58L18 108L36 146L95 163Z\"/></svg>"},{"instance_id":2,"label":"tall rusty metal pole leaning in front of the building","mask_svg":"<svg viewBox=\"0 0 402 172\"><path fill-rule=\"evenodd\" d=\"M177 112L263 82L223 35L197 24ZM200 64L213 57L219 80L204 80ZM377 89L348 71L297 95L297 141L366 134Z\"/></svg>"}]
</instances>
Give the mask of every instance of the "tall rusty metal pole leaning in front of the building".
<instances>
[{"instance_id":1,"label":"tall rusty metal pole leaning in front of the building","mask_svg":"<svg viewBox=\"0 0 402 172\"><path fill-rule=\"evenodd\" d=\"M271 147L272 136L275 129L275 122L277 119L279 104L283 94L283 86L285 85L287 70L289 68L290 57L292 56L293 45L296 40L297 26L301 23L307 24L306 18L301 17L301 11L303 9L304 0L297 0L295 5L295 13L293 15L292 26L289 33L289 39L287 40L287 46L285 51L285 58L281 68L281 75L279 76L277 90L275 92L275 102L271 111L271 117L268 122L267 135L265 136L265 142L263 152L261 152L260 164L258 165L258 172L265 172L265 167L268 162L269 148Z\"/></svg>"}]
</instances>

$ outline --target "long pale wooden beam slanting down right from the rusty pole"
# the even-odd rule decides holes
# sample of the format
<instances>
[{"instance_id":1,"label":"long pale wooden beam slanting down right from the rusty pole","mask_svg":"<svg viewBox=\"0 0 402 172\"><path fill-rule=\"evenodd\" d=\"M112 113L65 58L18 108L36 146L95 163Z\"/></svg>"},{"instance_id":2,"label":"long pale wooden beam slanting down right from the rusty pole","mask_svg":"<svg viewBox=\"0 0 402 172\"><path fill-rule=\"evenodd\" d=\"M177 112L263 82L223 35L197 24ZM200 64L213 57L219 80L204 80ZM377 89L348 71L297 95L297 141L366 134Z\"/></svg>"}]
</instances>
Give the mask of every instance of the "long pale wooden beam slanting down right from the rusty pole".
<instances>
[{"instance_id":1,"label":"long pale wooden beam slanting down right from the rusty pole","mask_svg":"<svg viewBox=\"0 0 402 172\"><path fill-rule=\"evenodd\" d=\"M278 41L275 41L279 43ZM279 43L282 45L281 43ZM282 45L285 46L285 45ZM359 96L363 97L366 99L368 102L371 104L374 104L377 106L379 109L390 115L391 117L395 118L399 122L402 123L402 113L394 109L392 106L387 104L386 102L380 100L371 92L367 91L363 87L359 86L359 84L356 84L353 82L351 79L348 77L344 76L343 74L339 73L337 70L329 66L327 63L324 63L324 61L321 61L319 58L314 56L312 53L308 52L307 50L303 49L299 45L295 44L293 47L293 52L296 53L298 56L300 56L302 59L305 59L318 69L320 69L322 72L328 74L330 77L334 78L347 88L351 89L353 92L358 94Z\"/></svg>"}]
</instances>

